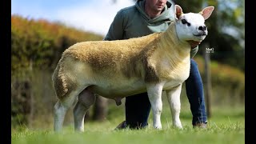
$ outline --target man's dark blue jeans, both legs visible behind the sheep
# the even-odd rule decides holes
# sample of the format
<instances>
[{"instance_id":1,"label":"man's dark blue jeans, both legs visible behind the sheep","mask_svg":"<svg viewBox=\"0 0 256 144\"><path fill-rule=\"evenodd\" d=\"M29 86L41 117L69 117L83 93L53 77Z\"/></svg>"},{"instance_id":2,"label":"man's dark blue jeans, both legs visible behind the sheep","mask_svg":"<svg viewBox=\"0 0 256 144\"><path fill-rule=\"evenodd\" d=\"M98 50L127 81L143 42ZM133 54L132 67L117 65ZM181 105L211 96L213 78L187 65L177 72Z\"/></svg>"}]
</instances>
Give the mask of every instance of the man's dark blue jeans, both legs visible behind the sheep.
<instances>
[{"instance_id":1,"label":"man's dark blue jeans, both legs visible behind the sheep","mask_svg":"<svg viewBox=\"0 0 256 144\"><path fill-rule=\"evenodd\" d=\"M190 60L190 76L186 79L186 95L193 115L192 125L195 125L196 122L207 123L202 78L198 70L198 64L193 59ZM147 126L150 108L147 93L126 97L126 124L130 128Z\"/></svg>"}]
</instances>

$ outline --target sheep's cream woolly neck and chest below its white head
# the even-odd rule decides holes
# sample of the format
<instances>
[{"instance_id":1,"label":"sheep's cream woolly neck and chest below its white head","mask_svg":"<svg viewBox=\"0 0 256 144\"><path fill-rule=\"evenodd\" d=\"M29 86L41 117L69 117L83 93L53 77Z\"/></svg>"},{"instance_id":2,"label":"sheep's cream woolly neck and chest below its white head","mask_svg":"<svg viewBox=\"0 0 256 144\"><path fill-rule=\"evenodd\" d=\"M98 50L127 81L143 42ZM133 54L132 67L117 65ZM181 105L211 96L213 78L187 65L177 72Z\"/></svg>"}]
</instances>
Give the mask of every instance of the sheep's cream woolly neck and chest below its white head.
<instances>
[{"instance_id":1,"label":"sheep's cream woolly neck and chest below its white head","mask_svg":"<svg viewBox=\"0 0 256 144\"><path fill-rule=\"evenodd\" d=\"M180 78L180 76L187 74L187 70L190 69L190 45L178 39L174 23L166 32L159 35L158 48L159 51L155 57L162 58L162 62L158 63L159 66L165 68L161 70L162 77L175 76Z\"/></svg>"}]
</instances>

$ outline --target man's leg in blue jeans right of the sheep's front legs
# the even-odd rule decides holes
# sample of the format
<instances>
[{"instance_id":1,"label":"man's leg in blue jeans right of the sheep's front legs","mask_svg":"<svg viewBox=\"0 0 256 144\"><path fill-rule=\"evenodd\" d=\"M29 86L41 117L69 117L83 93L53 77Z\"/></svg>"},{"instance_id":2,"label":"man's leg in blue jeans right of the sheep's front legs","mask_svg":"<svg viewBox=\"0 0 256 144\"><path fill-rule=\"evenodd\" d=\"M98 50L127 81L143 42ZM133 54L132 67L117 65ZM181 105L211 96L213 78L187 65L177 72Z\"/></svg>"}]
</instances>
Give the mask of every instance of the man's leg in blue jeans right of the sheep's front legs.
<instances>
[{"instance_id":1,"label":"man's leg in blue jeans right of the sheep's front legs","mask_svg":"<svg viewBox=\"0 0 256 144\"><path fill-rule=\"evenodd\" d=\"M192 125L200 126L202 123L206 124L207 116L202 78L198 70L198 64L193 59L190 60L190 76L186 79L186 95L193 114Z\"/></svg>"}]
</instances>

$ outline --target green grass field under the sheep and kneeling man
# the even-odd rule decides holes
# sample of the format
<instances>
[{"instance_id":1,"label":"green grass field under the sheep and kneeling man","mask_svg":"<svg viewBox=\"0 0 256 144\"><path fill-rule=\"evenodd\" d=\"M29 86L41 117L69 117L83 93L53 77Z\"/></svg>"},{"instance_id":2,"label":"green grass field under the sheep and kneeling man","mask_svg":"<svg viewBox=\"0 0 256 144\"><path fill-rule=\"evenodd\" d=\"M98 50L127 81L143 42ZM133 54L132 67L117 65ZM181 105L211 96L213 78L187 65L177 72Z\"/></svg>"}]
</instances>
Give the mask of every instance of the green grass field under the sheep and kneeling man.
<instances>
[{"instance_id":1,"label":"green grass field under the sheep and kneeling man","mask_svg":"<svg viewBox=\"0 0 256 144\"><path fill-rule=\"evenodd\" d=\"M164 103L162 111L162 130L152 127L152 114L149 126L144 130L114 130L122 122L123 109L110 113L105 122L86 122L85 132L74 132L73 123L66 124L61 134L55 134L52 125L49 128L33 128L20 126L12 129L11 143L15 144L242 144L245 143L245 111L244 106L215 106L212 117L208 118L206 130L194 129L191 126L191 114L188 105L182 106L181 121L183 130L172 127L169 106ZM111 110L111 108L110 108Z\"/></svg>"}]
</instances>

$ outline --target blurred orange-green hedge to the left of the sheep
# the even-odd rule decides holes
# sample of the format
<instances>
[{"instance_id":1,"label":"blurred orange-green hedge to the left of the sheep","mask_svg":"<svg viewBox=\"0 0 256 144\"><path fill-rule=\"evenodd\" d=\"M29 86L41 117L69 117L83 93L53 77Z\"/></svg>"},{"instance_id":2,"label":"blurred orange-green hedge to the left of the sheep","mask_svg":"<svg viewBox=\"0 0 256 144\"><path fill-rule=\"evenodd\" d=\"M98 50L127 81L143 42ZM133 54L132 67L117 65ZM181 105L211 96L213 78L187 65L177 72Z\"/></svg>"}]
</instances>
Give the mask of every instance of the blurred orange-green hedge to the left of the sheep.
<instances>
[{"instance_id":1,"label":"blurred orange-green hedge to the left of the sheep","mask_svg":"<svg viewBox=\"0 0 256 144\"><path fill-rule=\"evenodd\" d=\"M42 114L41 104L45 104L44 101L49 104L53 102L54 94L50 93L52 98L44 95L53 91L50 75L62 52L76 42L89 40L102 40L102 36L76 30L57 22L22 18L18 15L11 16L11 120L13 125L33 122L34 114ZM48 110L47 113L49 113L50 108L43 110Z\"/></svg>"}]
</instances>

